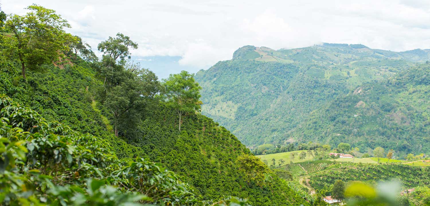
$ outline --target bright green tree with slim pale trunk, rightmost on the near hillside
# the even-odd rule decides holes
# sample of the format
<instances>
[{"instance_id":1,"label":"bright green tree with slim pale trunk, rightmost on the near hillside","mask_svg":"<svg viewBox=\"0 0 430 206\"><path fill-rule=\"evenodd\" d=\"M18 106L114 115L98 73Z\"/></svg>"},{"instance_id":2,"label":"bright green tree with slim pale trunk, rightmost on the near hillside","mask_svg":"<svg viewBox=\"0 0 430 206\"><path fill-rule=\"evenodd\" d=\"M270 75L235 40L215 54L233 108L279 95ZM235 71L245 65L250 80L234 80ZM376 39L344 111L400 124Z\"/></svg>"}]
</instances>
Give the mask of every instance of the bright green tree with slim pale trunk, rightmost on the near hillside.
<instances>
[{"instance_id":1,"label":"bright green tree with slim pale trunk, rightmost on the near hillside","mask_svg":"<svg viewBox=\"0 0 430 206\"><path fill-rule=\"evenodd\" d=\"M164 80L164 96L167 104L176 110L179 117L179 131L181 131L182 115L187 115L200 110L202 102L199 100L199 84L194 80L194 74L181 71L179 74L171 74Z\"/></svg>"}]
</instances>

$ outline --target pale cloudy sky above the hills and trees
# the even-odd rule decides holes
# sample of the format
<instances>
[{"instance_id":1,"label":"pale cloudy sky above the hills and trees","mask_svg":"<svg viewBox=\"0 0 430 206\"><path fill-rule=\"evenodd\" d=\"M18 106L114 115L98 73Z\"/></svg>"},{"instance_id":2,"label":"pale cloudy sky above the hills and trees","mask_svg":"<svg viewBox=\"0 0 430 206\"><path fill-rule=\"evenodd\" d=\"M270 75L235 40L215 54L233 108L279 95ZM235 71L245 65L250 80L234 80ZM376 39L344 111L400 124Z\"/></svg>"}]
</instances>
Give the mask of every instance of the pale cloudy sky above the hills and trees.
<instances>
[{"instance_id":1,"label":"pale cloudy sky above the hills and trees","mask_svg":"<svg viewBox=\"0 0 430 206\"><path fill-rule=\"evenodd\" d=\"M430 48L428 0L0 0L6 13L54 9L93 48L124 33L135 61L160 78L229 60L244 45L273 49L321 42L406 51Z\"/></svg>"}]
</instances>

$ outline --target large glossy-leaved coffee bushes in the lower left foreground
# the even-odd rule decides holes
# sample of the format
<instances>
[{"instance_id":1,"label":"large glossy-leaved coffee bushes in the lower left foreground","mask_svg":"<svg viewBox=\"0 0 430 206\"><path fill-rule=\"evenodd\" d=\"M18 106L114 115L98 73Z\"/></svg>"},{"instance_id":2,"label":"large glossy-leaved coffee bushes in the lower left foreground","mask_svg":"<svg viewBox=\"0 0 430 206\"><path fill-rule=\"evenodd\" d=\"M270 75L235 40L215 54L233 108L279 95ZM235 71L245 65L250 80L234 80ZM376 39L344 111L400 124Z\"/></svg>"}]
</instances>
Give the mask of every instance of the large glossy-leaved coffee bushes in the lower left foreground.
<instances>
[{"instance_id":1,"label":"large glossy-leaved coffee bushes in the lower left foreground","mask_svg":"<svg viewBox=\"0 0 430 206\"><path fill-rule=\"evenodd\" d=\"M192 205L196 201L188 185L159 165L144 159L121 161L108 142L46 122L4 95L0 100L3 204Z\"/></svg>"}]
</instances>

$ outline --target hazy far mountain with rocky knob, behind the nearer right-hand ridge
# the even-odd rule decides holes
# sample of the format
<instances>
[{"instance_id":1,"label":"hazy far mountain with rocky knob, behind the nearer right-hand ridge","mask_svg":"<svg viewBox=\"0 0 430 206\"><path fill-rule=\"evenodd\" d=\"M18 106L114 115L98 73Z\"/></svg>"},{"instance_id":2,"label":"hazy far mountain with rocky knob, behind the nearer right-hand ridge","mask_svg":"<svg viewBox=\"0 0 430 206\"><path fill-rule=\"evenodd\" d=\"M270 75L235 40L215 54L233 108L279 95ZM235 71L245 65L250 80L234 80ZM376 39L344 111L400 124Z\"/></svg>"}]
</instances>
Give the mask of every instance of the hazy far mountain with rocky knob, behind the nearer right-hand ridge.
<instances>
[{"instance_id":1,"label":"hazy far mountain with rocky knob, behind the nearer right-hand ridge","mask_svg":"<svg viewBox=\"0 0 430 206\"><path fill-rule=\"evenodd\" d=\"M196 74L203 87L202 113L249 147L293 142L297 135L290 130L312 111L359 85L389 79L427 61L428 54L420 49L393 52L329 43L278 51L244 46L234 52L233 60ZM312 135L310 139L315 139Z\"/></svg>"}]
</instances>

